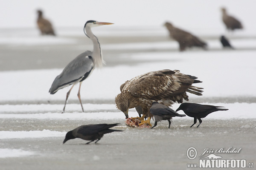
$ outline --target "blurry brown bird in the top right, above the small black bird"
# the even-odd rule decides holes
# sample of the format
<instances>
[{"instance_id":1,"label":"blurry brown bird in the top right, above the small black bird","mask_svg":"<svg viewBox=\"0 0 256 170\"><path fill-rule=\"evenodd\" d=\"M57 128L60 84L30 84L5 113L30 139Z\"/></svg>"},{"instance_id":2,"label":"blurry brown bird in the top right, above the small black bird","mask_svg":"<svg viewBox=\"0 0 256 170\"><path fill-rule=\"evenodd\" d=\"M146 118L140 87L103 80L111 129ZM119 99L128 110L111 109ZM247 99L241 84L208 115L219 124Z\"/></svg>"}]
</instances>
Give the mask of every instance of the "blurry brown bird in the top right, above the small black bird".
<instances>
[{"instance_id":1,"label":"blurry brown bird in the top right, above the small black bird","mask_svg":"<svg viewBox=\"0 0 256 170\"><path fill-rule=\"evenodd\" d=\"M234 31L235 29L242 29L243 26L239 20L227 14L226 8L221 8L222 20L227 27L227 30Z\"/></svg>"}]
</instances>

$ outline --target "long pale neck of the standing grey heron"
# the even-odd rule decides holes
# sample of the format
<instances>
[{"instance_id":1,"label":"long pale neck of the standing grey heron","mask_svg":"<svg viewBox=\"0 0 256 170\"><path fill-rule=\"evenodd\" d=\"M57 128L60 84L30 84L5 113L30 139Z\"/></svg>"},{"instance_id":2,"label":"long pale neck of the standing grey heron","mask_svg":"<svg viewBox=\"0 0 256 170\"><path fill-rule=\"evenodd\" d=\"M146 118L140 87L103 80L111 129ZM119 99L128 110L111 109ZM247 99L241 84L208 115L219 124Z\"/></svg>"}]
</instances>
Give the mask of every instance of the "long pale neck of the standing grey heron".
<instances>
[{"instance_id":1,"label":"long pale neck of the standing grey heron","mask_svg":"<svg viewBox=\"0 0 256 170\"><path fill-rule=\"evenodd\" d=\"M93 34L90 27L85 28L87 36L93 41L93 62L98 68L101 68L105 64L102 56L101 47L98 38Z\"/></svg>"}]
</instances>

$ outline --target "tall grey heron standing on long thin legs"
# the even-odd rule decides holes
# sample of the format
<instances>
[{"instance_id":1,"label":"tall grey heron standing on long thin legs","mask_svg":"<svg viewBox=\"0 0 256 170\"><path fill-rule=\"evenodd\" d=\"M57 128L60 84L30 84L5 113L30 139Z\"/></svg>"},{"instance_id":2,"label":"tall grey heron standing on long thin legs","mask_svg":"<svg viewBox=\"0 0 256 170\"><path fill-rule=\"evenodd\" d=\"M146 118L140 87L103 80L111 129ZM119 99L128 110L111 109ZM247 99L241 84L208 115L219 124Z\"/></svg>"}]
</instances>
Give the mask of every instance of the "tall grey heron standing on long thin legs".
<instances>
[{"instance_id":1,"label":"tall grey heron standing on long thin legs","mask_svg":"<svg viewBox=\"0 0 256 170\"><path fill-rule=\"evenodd\" d=\"M95 26L103 26L110 24L113 23L102 23L94 20L87 21L84 24L84 34L93 41L93 51L85 51L84 53L78 55L64 68L61 74L58 75L53 81L52 86L49 89L50 94L55 94L58 90L65 88L69 85L72 85L70 90L67 92L66 101L62 113L64 113L65 111L70 91L77 83L79 83L79 91L77 96L79 98L82 111L84 112L84 108L80 97L82 81L84 81L84 79L86 79L92 73L95 67L101 68L104 64L99 40L91 31L91 28Z\"/></svg>"}]
</instances>

